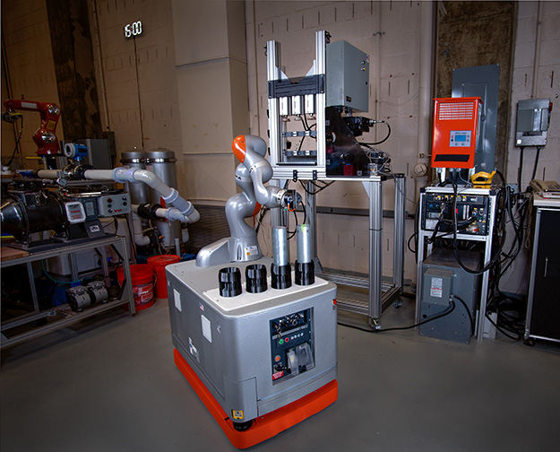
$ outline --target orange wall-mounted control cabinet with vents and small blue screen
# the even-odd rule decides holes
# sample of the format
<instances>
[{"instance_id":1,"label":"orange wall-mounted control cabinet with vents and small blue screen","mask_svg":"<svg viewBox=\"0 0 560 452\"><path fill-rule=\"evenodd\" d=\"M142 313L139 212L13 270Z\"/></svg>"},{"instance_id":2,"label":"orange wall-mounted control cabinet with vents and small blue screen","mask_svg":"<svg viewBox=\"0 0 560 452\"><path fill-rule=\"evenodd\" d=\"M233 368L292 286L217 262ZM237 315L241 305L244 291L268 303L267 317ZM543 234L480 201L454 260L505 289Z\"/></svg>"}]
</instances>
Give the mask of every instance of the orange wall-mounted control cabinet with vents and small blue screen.
<instances>
[{"instance_id":1,"label":"orange wall-mounted control cabinet with vents and small blue screen","mask_svg":"<svg viewBox=\"0 0 560 452\"><path fill-rule=\"evenodd\" d=\"M432 168L474 168L481 105L480 98L434 100Z\"/></svg>"}]
</instances>

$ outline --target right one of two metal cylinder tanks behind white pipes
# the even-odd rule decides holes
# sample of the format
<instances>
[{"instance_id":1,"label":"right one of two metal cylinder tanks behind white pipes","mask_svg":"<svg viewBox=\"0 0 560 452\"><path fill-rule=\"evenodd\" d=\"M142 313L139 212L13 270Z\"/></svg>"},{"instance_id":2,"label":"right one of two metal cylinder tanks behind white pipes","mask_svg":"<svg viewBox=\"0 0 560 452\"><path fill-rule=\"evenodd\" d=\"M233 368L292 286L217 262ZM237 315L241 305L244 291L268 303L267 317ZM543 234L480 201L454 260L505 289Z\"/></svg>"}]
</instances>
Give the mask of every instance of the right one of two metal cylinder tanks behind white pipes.
<instances>
[{"instance_id":1,"label":"right one of two metal cylinder tanks behind white pipes","mask_svg":"<svg viewBox=\"0 0 560 452\"><path fill-rule=\"evenodd\" d=\"M144 162L146 170L154 173L169 187L177 189L177 167L176 167L175 152L168 149L158 148L152 151L144 152ZM154 190L149 190L150 202L161 204L165 206L165 201L159 197L159 194ZM175 246L177 240L179 244L181 240L181 223L180 222L158 222L159 233L163 236L163 246ZM179 250L177 249L177 254Z\"/></svg>"}]
</instances>

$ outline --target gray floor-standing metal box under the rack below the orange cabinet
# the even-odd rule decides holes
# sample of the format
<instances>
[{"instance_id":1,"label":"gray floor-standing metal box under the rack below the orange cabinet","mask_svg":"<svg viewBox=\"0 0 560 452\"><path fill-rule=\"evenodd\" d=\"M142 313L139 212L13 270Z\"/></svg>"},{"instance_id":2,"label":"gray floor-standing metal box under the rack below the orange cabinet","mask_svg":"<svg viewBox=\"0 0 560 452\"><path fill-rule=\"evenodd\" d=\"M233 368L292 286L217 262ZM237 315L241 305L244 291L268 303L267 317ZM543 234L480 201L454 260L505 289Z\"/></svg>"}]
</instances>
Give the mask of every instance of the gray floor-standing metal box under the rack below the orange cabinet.
<instances>
[{"instance_id":1,"label":"gray floor-standing metal box under the rack below the orange cabinet","mask_svg":"<svg viewBox=\"0 0 560 452\"><path fill-rule=\"evenodd\" d=\"M463 265L470 269L478 268L479 253L473 251L459 251L459 253ZM479 275L470 274L461 268L452 250L438 248L427 256L422 264L420 321L442 317L420 325L420 335L470 343L471 319L474 321L476 315L479 282ZM453 296L463 300L466 307ZM455 304L454 309L451 301ZM444 315L446 311L449 313Z\"/></svg>"}]
</instances>

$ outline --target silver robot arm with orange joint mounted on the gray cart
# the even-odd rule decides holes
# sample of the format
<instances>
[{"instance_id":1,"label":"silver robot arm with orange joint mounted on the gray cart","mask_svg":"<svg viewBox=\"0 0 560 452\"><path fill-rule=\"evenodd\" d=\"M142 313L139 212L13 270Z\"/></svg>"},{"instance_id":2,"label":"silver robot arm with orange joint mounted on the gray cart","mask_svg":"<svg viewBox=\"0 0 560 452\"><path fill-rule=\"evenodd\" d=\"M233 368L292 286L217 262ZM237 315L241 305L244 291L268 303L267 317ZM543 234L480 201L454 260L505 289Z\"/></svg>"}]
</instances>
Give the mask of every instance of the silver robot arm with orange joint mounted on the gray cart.
<instances>
[{"instance_id":1,"label":"silver robot arm with orange joint mounted on the gray cart","mask_svg":"<svg viewBox=\"0 0 560 452\"><path fill-rule=\"evenodd\" d=\"M245 222L245 218L258 213L261 205L272 209L294 203L294 196L289 190L264 187L272 178L272 168L264 157L266 143L262 138L239 135L231 143L231 148L241 161L236 169L236 183L243 192L231 196L226 204L231 237L202 248L196 256L196 265L200 267L261 258L263 253L256 232Z\"/></svg>"}]
</instances>

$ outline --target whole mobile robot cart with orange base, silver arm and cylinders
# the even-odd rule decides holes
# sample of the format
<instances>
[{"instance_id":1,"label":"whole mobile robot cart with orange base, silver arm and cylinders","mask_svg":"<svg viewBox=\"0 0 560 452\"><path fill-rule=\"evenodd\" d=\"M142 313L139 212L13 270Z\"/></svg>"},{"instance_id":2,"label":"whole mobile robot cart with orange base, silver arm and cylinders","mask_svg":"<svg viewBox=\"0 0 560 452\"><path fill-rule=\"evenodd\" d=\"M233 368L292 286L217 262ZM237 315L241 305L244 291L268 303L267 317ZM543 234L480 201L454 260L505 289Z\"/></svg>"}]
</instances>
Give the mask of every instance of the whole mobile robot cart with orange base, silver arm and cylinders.
<instances>
[{"instance_id":1,"label":"whole mobile robot cart with orange base, silver arm and cylinders","mask_svg":"<svg viewBox=\"0 0 560 452\"><path fill-rule=\"evenodd\" d=\"M272 229L274 255L263 257L244 219L298 199L264 186L261 138L238 136L232 148L242 192L226 205L231 237L166 274L177 367L231 443L248 448L337 399L336 286L314 275L306 227L293 271L285 227Z\"/></svg>"}]
</instances>

